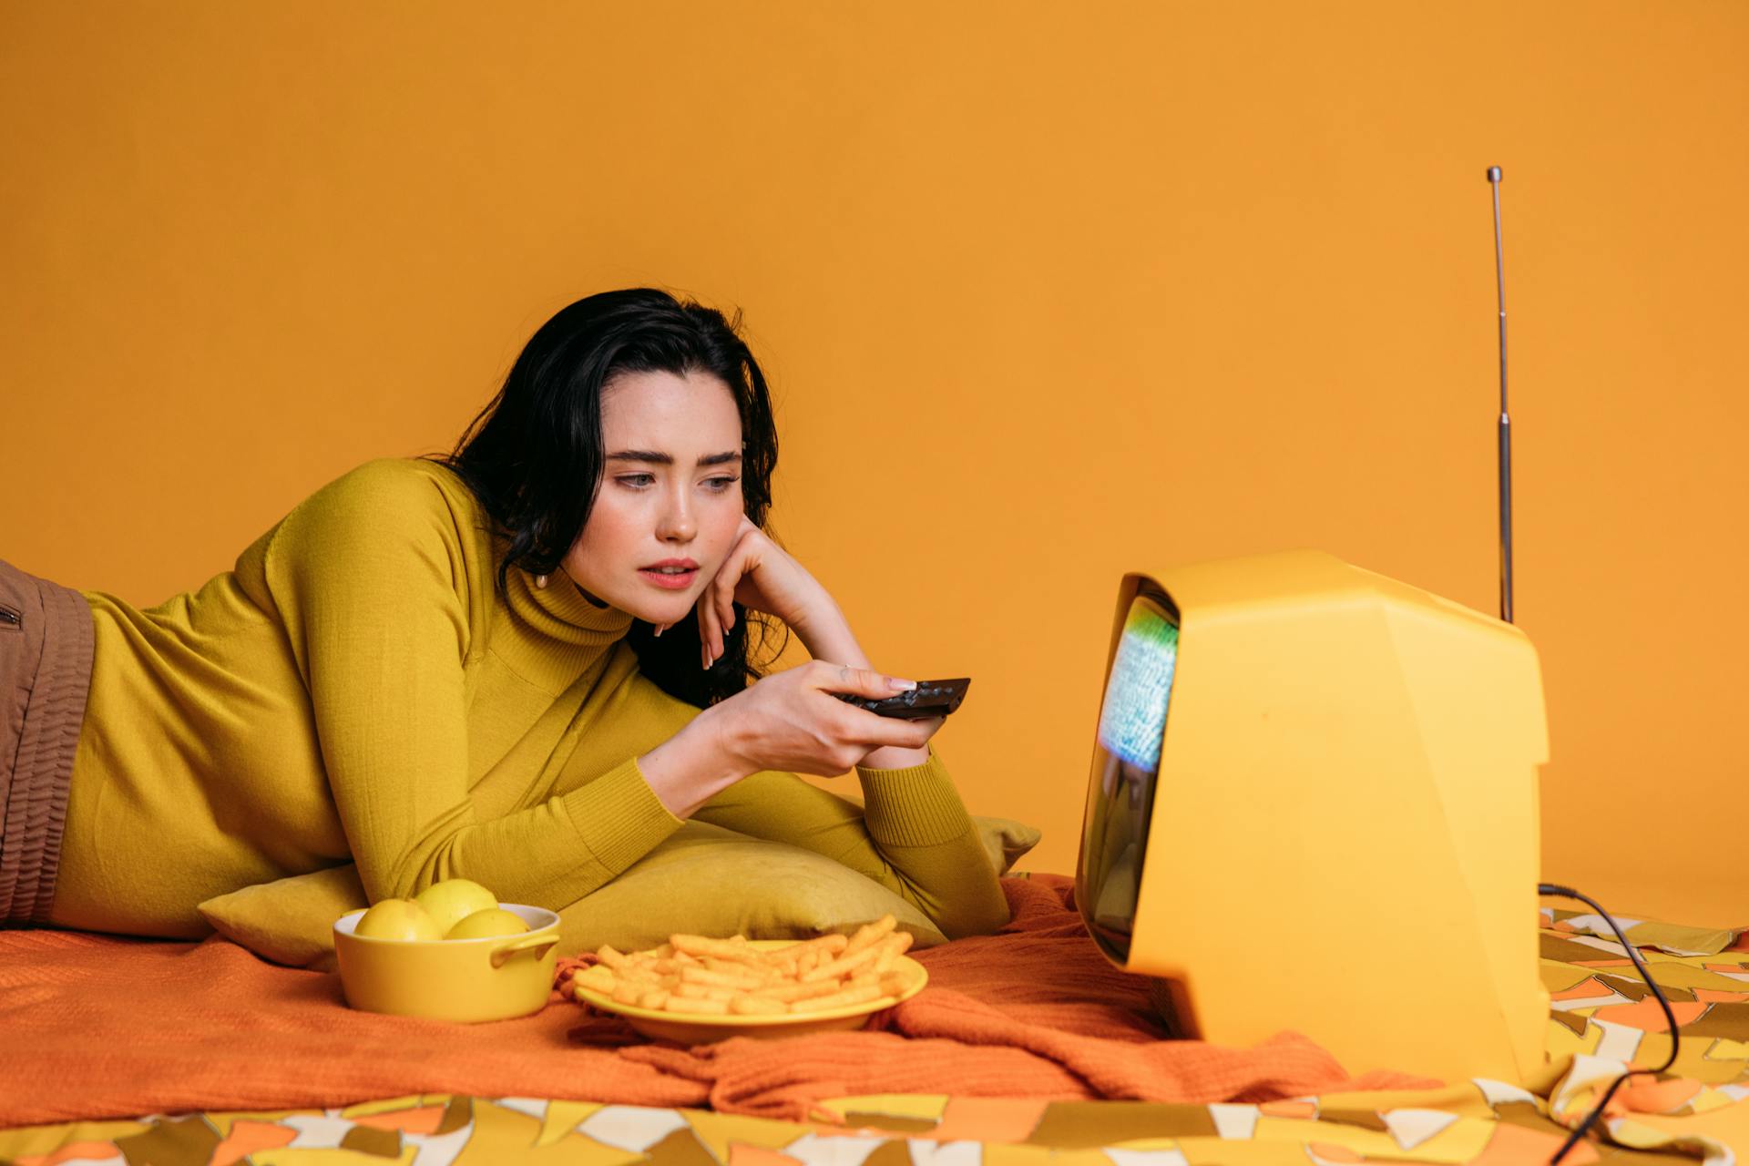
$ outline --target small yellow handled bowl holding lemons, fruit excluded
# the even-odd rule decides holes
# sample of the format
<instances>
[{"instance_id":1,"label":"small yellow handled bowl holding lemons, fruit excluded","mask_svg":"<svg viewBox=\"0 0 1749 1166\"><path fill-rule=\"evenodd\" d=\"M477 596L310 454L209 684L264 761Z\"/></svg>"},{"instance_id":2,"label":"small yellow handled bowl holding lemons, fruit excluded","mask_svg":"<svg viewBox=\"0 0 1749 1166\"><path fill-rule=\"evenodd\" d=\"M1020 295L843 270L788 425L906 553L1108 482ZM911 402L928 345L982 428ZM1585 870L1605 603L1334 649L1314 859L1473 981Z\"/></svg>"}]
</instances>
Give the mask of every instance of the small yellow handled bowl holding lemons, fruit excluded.
<instances>
[{"instance_id":1,"label":"small yellow handled bowl holding lemons, fruit excluded","mask_svg":"<svg viewBox=\"0 0 1749 1166\"><path fill-rule=\"evenodd\" d=\"M484 939L367 939L353 935L364 911L334 923L334 954L346 1003L364 1012L437 1021L502 1021L546 1007L558 963L558 916L498 904L519 914L526 935Z\"/></svg>"}]
</instances>

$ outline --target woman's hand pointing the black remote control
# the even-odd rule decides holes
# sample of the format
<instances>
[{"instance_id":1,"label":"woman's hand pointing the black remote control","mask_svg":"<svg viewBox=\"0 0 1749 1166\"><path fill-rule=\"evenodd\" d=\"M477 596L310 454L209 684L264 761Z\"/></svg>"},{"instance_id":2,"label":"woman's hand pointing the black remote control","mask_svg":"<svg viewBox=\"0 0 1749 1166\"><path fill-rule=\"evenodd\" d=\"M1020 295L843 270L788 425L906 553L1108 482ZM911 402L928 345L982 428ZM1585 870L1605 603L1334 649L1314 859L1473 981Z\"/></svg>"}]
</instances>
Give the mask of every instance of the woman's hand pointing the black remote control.
<instances>
[{"instance_id":1,"label":"woman's hand pointing the black remote control","mask_svg":"<svg viewBox=\"0 0 1749 1166\"><path fill-rule=\"evenodd\" d=\"M881 699L908 687L916 685L862 668L810 661L763 677L707 711L717 722L717 739L738 776L787 769L831 778L887 745L922 748L943 722L943 717L878 717L833 692Z\"/></svg>"}]
</instances>

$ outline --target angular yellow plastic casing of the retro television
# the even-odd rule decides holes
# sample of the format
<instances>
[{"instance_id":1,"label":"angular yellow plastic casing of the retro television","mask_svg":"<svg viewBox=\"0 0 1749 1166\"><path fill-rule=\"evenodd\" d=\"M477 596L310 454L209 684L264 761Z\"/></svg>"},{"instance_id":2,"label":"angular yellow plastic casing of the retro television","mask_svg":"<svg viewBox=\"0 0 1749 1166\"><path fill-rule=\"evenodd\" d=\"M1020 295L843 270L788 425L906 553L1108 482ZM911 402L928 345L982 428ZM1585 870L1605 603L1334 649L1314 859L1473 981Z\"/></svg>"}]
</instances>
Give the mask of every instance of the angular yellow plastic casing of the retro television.
<instances>
[{"instance_id":1,"label":"angular yellow plastic casing of the retro television","mask_svg":"<svg viewBox=\"0 0 1749 1166\"><path fill-rule=\"evenodd\" d=\"M1177 663L1128 958L1107 956L1165 977L1188 1037L1294 1030L1350 1073L1532 1080L1548 731L1530 640L1294 551L1125 575L1107 677L1149 580L1177 607Z\"/></svg>"}]
</instances>

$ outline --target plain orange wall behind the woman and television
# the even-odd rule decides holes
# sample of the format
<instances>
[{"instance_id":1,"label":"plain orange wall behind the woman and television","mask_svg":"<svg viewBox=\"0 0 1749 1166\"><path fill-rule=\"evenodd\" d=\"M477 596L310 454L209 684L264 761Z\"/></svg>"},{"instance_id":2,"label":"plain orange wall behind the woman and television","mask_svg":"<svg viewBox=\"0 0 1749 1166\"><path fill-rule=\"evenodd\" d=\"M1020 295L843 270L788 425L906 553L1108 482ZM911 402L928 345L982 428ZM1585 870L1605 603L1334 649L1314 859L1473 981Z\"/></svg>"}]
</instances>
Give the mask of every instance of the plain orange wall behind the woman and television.
<instances>
[{"instance_id":1,"label":"plain orange wall behind the woman and television","mask_svg":"<svg viewBox=\"0 0 1749 1166\"><path fill-rule=\"evenodd\" d=\"M1723 0L9 3L0 554L163 600L565 302L740 306L778 533L1072 871L1123 570L1495 610L1499 164L1544 867L1749 923L1744 59Z\"/></svg>"}]
</instances>

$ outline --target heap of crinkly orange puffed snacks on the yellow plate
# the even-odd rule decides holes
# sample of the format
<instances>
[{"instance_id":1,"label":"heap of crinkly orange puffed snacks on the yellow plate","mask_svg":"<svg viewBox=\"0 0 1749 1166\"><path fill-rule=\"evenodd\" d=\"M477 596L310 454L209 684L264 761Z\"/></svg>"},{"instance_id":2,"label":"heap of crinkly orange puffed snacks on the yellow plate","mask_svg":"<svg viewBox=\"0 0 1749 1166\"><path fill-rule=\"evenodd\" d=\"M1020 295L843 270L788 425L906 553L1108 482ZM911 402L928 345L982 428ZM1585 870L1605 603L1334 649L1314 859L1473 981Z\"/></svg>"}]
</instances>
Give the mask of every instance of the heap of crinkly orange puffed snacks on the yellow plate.
<instances>
[{"instance_id":1,"label":"heap of crinkly orange puffed snacks on the yellow plate","mask_svg":"<svg viewBox=\"0 0 1749 1166\"><path fill-rule=\"evenodd\" d=\"M897 998L909 979L897 960L911 935L890 914L855 935L820 935L759 949L745 935L670 935L647 951L602 946L572 981L614 1003L686 1016L806 1016Z\"/></svg>"}]
</instances>

